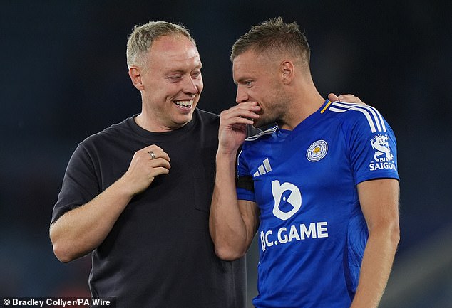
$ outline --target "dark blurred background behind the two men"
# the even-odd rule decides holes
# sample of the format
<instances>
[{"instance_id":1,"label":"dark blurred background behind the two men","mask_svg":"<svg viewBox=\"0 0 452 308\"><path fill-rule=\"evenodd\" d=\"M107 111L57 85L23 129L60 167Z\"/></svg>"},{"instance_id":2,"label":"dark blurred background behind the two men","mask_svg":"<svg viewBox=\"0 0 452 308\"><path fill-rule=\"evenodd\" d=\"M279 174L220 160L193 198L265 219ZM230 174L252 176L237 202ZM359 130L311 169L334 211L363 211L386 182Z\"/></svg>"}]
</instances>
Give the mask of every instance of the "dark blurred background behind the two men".
<instances>
[{"instance_id":1,"label":"dark blurred background behind the two men","mask_svg":"<svg viewBox=\"0 0 452 308\"><path fill-rule=\"evenodd\" d=\"M378 4L376 4L378 3ZM48 225L78 142L140 111L125 44L135 24L197 40L198 107L235 103L230 47L297 21L319 92L354 93L398 139L401 243L381 307L452 307L452 22L448 1L0 1L0 297L88 294L91 258L61 264ZM257 246L248 254L255 295ZM314 284L314 282L313 282ZM251 305L250 305L251 307Z\"/></svg>"}]
</instances>

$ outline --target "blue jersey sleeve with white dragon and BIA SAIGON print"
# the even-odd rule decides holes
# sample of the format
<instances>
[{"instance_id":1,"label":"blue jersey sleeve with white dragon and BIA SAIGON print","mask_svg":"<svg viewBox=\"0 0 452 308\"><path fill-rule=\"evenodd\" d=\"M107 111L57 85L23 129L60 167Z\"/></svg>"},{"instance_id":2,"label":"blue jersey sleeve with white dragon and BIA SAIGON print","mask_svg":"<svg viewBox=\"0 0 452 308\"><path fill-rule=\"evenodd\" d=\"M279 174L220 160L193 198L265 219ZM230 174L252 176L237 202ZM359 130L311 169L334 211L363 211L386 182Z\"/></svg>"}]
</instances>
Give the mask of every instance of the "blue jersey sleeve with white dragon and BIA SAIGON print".
<instances>
[{"instance_id":1,"label":"blue jersey sleeve with white dragon and BIA SAIGON print","mask_svg":"<svg viewBox=\"0 0 452 308\"><path fill-rule=\"evenodd\" d=\"M355 185L371 179L399 179L394 132L374 107L367 108L371 120L354 113L354 119L344 128Z\"/></svg>"}]
</instances>

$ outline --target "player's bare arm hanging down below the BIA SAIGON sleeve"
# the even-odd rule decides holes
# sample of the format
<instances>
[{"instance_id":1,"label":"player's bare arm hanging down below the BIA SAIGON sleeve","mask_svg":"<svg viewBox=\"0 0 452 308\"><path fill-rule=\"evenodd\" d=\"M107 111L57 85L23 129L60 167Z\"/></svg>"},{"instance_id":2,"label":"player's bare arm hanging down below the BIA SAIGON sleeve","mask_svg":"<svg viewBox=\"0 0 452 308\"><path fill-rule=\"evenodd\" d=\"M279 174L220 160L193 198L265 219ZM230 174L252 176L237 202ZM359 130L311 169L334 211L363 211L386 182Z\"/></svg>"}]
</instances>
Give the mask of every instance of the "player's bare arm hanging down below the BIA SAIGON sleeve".
<instances>
[{"instance_id":1,"label":"player's bare arm hanging down below the BIA SAIGON sleeve","mask_svg":"<svg viewBox=\"0 0 452 308\"><path fill-rule=\"evenodd\" d=\"M395 179L364 181L358 184L358 193L369 240L351 308L376 308L399 243L399 182Z\"/></svg>"}]
</instances>

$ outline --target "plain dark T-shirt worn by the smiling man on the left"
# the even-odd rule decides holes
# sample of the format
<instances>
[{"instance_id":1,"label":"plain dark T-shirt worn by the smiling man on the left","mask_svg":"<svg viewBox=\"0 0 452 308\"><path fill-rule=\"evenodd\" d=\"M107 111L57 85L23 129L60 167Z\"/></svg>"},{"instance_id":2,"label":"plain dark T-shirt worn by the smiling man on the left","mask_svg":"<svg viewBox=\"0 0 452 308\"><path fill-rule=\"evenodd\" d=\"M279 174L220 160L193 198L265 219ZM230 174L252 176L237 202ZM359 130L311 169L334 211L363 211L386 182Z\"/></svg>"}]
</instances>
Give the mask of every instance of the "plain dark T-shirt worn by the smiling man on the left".
<instances>
[{"instance_id":1,"label":"plain dark T-shirt worn by the smiling man on the left","mask_svg":"<svg viewBox=\"0 0 452 308\"><path fill-rule=\"evenodd\" d=\"M208 229L218 127L219 117L202 110L163 133L130 117L78 145L52 221L111 186L139 149L156 144L171 165L130 201L93 250L93 297L115 297L118 308L245 307L245 260L217 258Z\"/></svg>"}]
</instances>

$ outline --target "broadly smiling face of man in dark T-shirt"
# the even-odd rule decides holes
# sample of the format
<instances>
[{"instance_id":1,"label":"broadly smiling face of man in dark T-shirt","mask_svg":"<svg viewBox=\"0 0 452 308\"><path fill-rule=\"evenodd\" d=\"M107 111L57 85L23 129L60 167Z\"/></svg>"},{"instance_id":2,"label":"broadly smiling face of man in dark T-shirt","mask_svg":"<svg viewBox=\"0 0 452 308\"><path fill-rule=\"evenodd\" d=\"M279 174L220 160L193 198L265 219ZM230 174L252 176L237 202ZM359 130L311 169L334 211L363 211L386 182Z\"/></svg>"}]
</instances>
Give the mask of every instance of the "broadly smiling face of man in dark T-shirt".
<instances>
[{"instance_id":1,"label":"broadly smiling face of man in dark T-shirt","mask_svg":"<svg viewBox=\"0 0 452 308\"><path fill-rule=\"evenodd\" d=\"M155 40L140 68L142 123L153 132L167 132L192 120L203 83L196 46L185 36Z\"/></svg>"}]
</instances>

